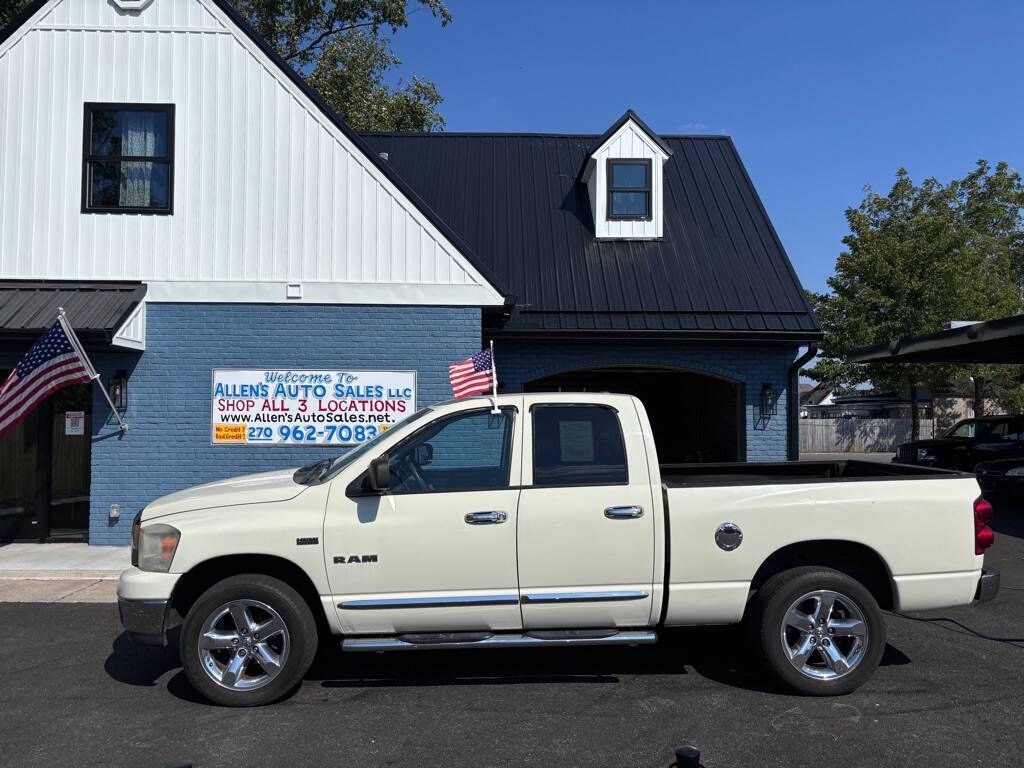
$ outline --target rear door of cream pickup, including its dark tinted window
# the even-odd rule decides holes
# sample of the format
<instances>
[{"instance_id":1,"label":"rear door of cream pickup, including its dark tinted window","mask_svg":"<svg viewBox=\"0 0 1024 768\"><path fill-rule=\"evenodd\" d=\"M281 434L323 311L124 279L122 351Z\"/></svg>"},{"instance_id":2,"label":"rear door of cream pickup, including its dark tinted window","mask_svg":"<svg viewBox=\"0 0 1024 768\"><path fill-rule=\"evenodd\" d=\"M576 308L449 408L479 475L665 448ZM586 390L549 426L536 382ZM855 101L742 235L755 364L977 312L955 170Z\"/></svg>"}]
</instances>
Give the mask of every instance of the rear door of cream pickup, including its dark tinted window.
<instances>
[{"instance_id":1,"label":"rear door of cream pickup, including its dark tinted window","mask_svg":"<svg viewBox=\"0 0 1024 768\"><path fill-rule=\"evenodd\" d=\"M529 401L518 534L524 627L646 626L654 518L636 413Z\"/></svg>"}]
</instances>

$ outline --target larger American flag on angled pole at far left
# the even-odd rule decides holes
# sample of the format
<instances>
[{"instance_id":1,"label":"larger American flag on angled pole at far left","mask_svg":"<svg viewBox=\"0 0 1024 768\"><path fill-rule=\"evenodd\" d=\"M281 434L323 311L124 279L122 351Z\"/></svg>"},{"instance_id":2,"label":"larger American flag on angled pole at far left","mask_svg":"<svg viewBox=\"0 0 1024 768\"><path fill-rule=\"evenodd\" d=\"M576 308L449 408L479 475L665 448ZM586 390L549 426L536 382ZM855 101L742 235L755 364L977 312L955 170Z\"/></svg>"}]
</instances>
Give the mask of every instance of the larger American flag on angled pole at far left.
<instances>
[{"instance_id":1,"label":"larger American flag on angled pole at far left","mask_svg":"<svg viewBox=\"0 0 1024 768\"><path fill-rule=\"evenodd\" d=\"M60 321L54 323L0 386L0 435L58 389L91 381L91 373L92 367L79 354Z\"/></svg>"}]
</instances>

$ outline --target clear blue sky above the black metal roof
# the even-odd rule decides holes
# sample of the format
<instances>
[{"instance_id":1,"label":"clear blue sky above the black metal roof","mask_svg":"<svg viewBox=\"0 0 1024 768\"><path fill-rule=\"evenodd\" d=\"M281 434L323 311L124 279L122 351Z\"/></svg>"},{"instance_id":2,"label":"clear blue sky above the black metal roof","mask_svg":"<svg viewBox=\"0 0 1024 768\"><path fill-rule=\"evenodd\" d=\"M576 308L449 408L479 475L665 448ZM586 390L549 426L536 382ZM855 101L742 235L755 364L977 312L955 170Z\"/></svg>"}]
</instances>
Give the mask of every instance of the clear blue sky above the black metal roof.
<instances>
[{"instance_id":1,"label":"clear blue sky above the black metal roof","mask_svg":"<svg viewBox=\"0 0 1024 768\"><path fill-rule=\"evenodd\" d=\"M447 129L732 136L805 288L870 184L1024 167L1024 3L449 0L394 48Z\"/></svg>"}]
</instances>

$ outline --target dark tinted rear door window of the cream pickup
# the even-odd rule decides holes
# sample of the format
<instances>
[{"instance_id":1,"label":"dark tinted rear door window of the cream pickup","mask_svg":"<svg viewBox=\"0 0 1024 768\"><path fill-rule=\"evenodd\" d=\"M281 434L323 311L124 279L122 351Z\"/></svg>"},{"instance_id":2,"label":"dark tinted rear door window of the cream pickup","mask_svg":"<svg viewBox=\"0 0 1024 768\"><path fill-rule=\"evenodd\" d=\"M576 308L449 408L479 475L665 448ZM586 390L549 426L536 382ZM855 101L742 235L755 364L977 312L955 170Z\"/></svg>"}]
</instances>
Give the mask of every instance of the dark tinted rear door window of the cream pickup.
<instances>
[{"instance_id":1,"label":"dark tinted rear door window of the cream pickup","mask_svg":"<svg viewBox=\"0 0 1024 768\"><path fill-rule=\"evenodd\" d=\"M628 481L618 417L599 406L534 410L535 485L621 485Z\"/></svg>"}]
</instances>

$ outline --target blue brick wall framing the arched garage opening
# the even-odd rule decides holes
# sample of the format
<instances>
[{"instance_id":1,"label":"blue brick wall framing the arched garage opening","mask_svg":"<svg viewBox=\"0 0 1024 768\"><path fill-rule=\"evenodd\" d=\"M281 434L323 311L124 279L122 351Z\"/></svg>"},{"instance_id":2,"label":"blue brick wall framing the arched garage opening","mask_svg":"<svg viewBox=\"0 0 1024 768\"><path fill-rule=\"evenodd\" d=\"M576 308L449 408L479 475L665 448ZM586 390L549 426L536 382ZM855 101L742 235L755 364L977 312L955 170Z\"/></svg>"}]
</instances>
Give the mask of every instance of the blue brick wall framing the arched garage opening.
<instances>
[{"instance_id":1,"label":"blue brick wall framing the arched garage opening","mask_svg":"<svg viewBox=\"0 0 1024 768\"><path fill-rule=\"evenodd\" d=\"M496 344L498 377L507 391L565 371L602 366L673 367L724 377L744 386L748 461L785 461L790 366L798 347L777 344L546 343ZM761 386L778 393L774 416L761 413ZM657 418L656 414L651 415Z\"/></svg>"}]
</instances>

